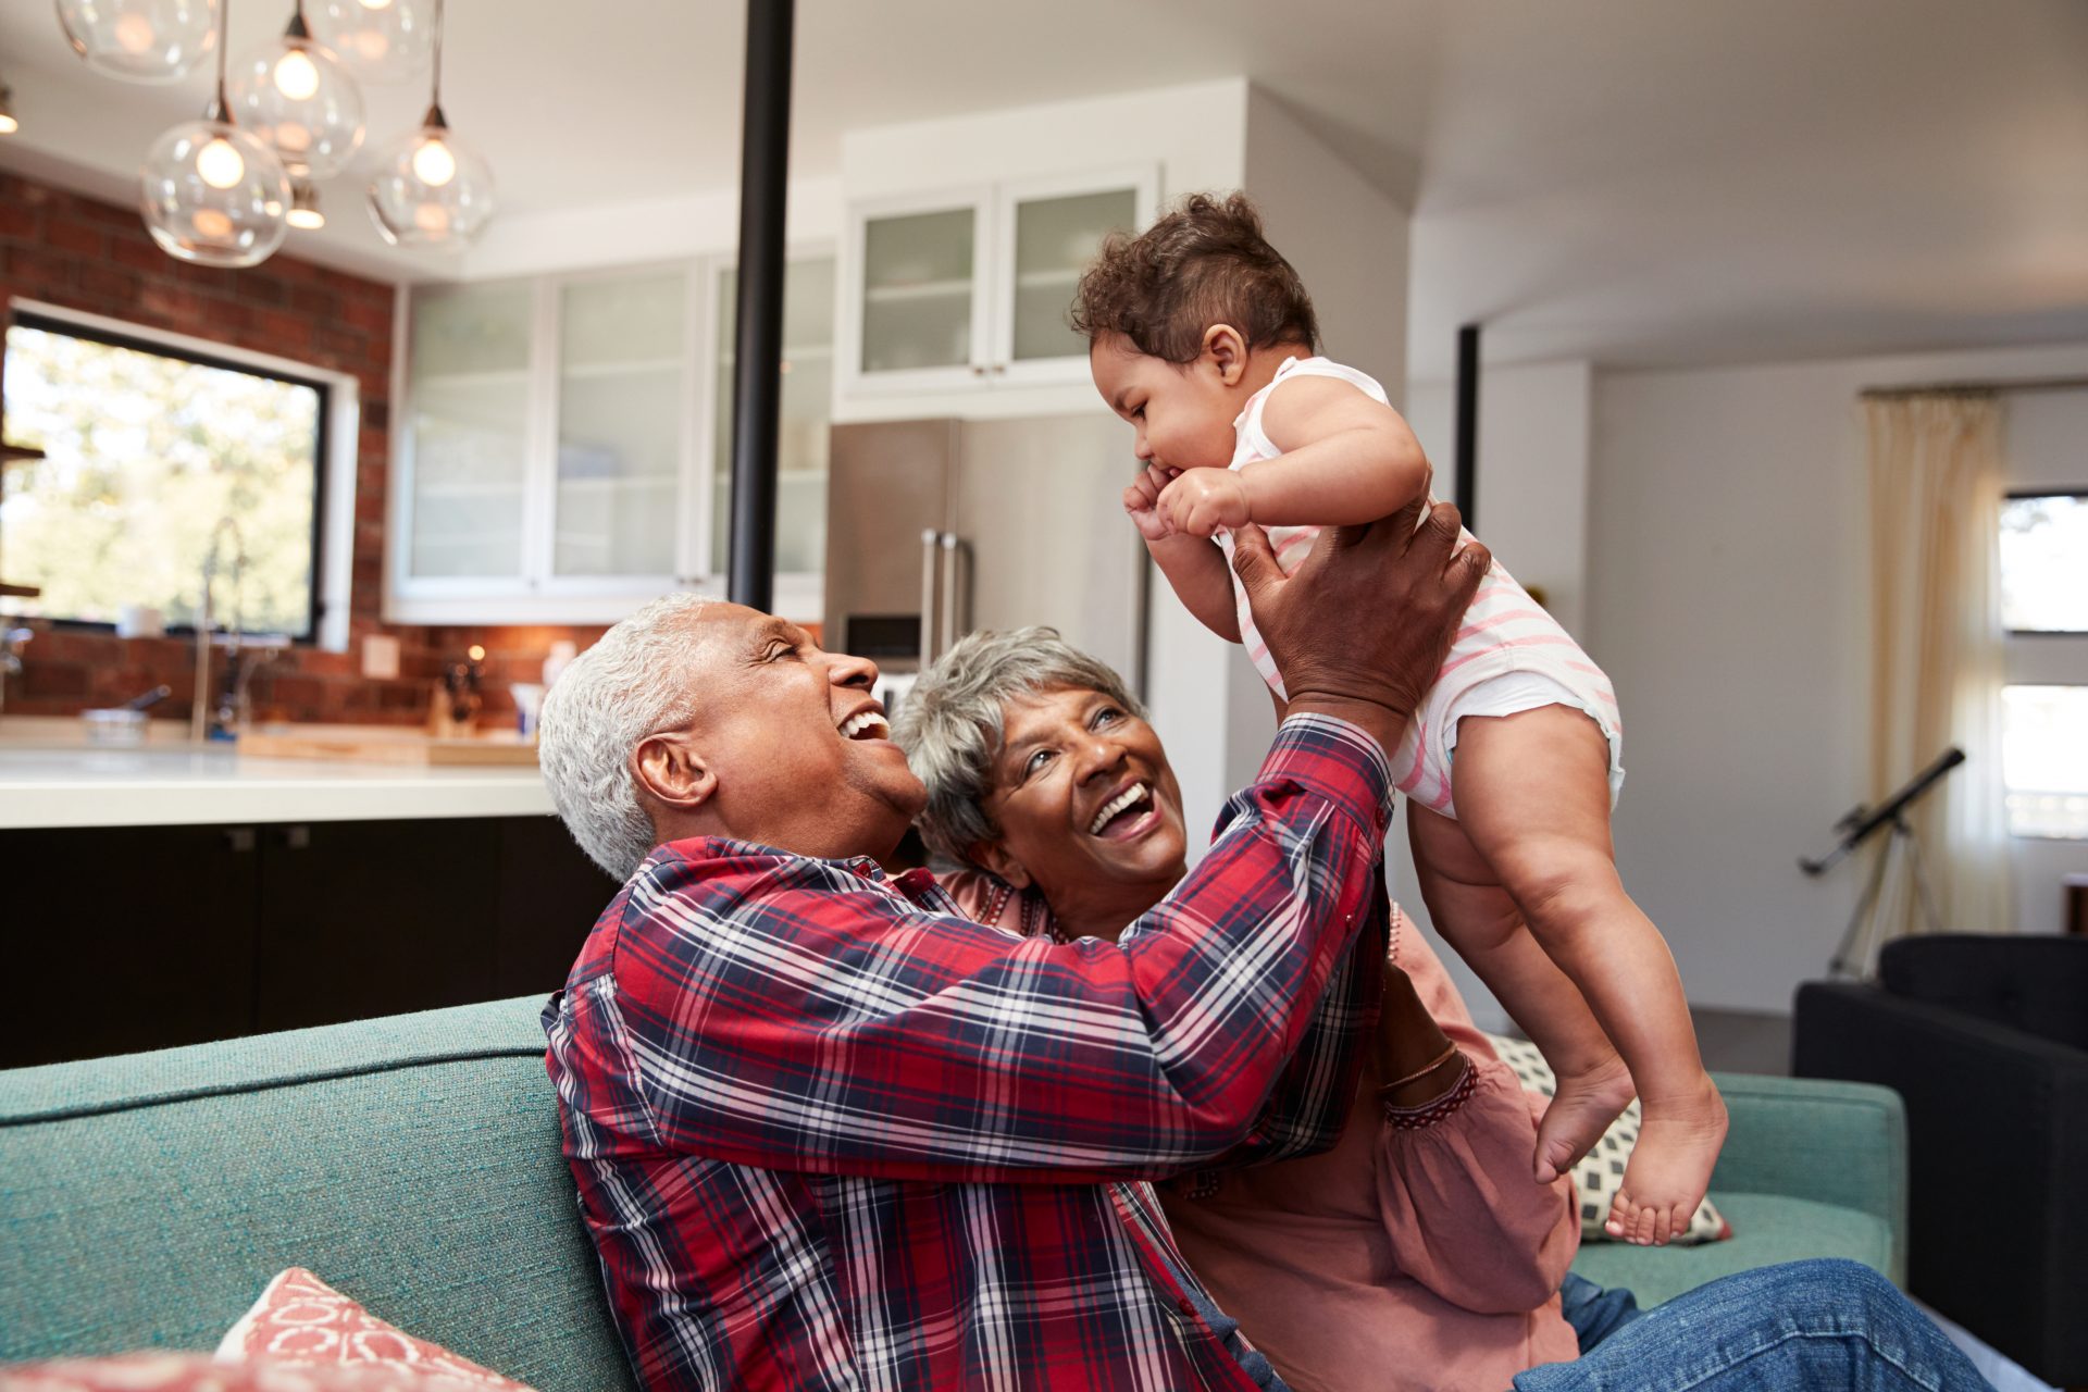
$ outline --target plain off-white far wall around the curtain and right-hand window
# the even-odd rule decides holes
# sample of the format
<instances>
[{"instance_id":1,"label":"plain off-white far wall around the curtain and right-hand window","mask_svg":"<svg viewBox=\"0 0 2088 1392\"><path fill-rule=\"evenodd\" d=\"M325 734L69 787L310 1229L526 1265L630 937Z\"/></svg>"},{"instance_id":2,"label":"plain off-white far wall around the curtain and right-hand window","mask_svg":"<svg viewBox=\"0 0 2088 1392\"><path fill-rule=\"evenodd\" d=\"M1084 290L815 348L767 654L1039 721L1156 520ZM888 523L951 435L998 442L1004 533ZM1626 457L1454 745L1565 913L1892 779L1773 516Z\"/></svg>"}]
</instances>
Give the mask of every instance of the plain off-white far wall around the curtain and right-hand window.
<instances>
[{"instance_id":1,"label":"plain off-white far wall around the curtain and right-hand window","mask_svg":"<svg viewBox=\"0 0 2088 1392\"><path fill-rule=\"evenodd\" d=\"M1865 868L1796 868L1867 781L1856 392L2084 371L2088 346L1597 378L1587 645L1624 705L1618 866L1698 1004L1787 1010ZM2088 480L2088 394L2009 405L2019 480ZM2088 845L2015 849L2017 927L2050 931Z\"/></svg>"}]
</instances>

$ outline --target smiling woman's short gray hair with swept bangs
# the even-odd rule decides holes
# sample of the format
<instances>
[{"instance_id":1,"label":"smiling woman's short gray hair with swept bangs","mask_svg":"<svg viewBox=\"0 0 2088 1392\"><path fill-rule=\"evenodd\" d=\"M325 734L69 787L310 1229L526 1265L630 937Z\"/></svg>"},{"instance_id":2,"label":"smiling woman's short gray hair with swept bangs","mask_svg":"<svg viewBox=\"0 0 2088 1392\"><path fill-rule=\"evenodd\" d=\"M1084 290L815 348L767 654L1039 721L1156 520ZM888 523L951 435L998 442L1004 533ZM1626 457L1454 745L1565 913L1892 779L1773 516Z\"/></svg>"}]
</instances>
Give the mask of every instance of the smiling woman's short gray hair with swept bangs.
<instances>
[{"instance_id":1,"label":"smiling woman's short gray hair with swept bangs","mask_svg":"<svg viewBox=\"0 0 2088 1392\"><path fill-rule=\"evenodd\" d=\"M1107 662L1059 637L1057 628L981 630L960 639L921 674L900 703L892 739L927 785L921 839L971 862L971 847L1000 835L986 816L994 755L1004 739L1002 705L1034 691L1098 691L1144 720L1138 697Z\"/></svg>"}]
</instances>

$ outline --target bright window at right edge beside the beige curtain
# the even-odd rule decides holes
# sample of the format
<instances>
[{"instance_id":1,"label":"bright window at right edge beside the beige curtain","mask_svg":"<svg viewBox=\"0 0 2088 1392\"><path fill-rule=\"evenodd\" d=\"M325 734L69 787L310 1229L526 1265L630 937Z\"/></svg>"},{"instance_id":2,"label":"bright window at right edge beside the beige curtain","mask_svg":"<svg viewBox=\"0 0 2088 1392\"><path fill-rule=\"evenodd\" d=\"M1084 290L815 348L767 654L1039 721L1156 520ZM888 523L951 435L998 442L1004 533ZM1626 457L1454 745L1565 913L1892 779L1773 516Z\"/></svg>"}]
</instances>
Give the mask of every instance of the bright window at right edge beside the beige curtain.
<instances>
[{"instance_id":1,"label":"bright window at right edge beside the beige curtain","mask_svg":"<svg viewBox=\"0 0 2088 1392\"><path fill-rule=\"evenodd\" d=\"M2002 503L2000 607L2009 831L2088 839L2088 495Z\"/></svg>"}]
</instances>

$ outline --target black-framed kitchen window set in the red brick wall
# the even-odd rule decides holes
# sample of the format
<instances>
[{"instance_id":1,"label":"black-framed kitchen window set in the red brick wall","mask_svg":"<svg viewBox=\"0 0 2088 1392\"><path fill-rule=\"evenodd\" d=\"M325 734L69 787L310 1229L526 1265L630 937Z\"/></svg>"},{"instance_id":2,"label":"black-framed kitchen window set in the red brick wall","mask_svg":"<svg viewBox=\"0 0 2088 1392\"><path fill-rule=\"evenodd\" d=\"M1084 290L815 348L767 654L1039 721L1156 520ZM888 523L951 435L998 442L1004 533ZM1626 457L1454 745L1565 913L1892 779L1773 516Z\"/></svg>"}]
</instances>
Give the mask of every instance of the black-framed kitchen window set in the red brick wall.
<instances>
[{"instance_id":1,"label":"black-framed kitchen window set in the red brick wall","mask_svg":"<svg viewBox=\"0 0 2088 1392\"><path fill-rule=\"evenodd\" d=\"M317 637L328 376L17 309L6 436L44 457L0 480L0 576L40 593L0 603L81 624L142 605L194 626L213 536L232 520L217 626L236 614L246 632ZM234 551L244 551L236 597Z\"/></svg>"}]
</instances>

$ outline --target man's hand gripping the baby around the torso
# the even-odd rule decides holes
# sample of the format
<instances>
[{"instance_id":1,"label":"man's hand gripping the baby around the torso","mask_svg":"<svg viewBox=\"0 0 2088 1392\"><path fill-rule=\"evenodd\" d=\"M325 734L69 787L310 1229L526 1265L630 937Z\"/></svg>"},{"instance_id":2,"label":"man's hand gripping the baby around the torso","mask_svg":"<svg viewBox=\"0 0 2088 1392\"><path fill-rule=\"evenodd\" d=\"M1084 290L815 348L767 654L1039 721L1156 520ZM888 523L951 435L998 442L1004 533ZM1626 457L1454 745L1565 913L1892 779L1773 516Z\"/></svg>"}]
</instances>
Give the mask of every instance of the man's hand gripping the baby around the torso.
<instances>
[{"instance_id":1,"label":"man's hand gripping the baby around the torso","mask_svg":"<svg viewBox=\"0 0 2088 1392\"><path fill-rule=\"evenodd\" d=\"M1261 528L1234 532L1232 568L1292 712L1343 716L1397 747L1493 563L1476 541L1460 551L1457 530L1455 507L1416 499L1368 528L1322 530L1288 578Z\"/></svg>"}]
</instances>

